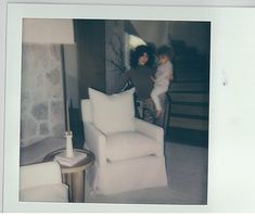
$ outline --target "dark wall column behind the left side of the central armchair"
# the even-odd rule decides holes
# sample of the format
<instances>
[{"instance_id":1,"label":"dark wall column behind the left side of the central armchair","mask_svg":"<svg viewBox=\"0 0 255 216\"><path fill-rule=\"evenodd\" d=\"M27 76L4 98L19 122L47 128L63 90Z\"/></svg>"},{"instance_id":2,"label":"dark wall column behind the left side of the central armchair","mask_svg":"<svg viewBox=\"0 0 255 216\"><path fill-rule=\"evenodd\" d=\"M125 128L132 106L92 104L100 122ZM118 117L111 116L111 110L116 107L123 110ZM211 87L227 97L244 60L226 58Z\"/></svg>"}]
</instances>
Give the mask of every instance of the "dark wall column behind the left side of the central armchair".
<instances>
[{"instance_id":1,"label":"dark wall column behind the left side of the central armchair","mask_svg":"<svg viewBox=\"0 0 255 216\"><path fill-rule=\"evenodd\" d=\"M75 20L78 56L79 98L88 98L88 88L105 92L105 22Z\"/></svg>"}]
</instances>

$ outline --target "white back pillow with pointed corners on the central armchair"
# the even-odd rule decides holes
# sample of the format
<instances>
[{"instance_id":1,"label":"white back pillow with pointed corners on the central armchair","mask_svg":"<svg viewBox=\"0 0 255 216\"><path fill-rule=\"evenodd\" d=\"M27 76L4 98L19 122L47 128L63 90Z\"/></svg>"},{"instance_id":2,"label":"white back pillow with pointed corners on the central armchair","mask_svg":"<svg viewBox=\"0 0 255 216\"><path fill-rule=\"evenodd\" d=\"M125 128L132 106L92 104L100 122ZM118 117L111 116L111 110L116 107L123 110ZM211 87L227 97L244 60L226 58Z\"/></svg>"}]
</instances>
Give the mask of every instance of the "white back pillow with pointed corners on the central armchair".
<instances>
[{"instance_id":1,"label":"white back pillow with pointed corners on the central armchair","mask_svg":"<svg viewBox=\"0 0 255 216\"><path fill-rule=\"evenodd\" d=\"M89 88L92 120L103 134L135 130L135 88L106 96Z\"/></svg>"}]
</instances>

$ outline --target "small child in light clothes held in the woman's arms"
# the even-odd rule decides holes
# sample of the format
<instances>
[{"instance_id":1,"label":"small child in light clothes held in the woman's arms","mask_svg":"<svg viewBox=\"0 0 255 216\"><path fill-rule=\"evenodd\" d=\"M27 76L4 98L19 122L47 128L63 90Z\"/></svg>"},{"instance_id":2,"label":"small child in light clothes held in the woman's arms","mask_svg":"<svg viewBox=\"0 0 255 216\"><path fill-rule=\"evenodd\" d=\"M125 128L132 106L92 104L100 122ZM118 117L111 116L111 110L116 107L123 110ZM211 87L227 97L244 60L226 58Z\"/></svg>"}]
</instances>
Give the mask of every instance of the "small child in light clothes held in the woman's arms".
<instances>
[{"instance_id":1,"label":"small child in light clothes held in the woman's arms","mask_svg":"<svg viewBox=\"0 0 255 216\"><path fill-rule=\"evenodd\" d=\"M160 117L162 113L162 105L160 96L168 90L169 84L174 80L173 71L173 49L167 46L162 46L157 49L158 66L155 73L155 77L151 77L154 81L154 88L151 92L151 98L156 107L156 117Z\"/></svg>"}]
</instances>

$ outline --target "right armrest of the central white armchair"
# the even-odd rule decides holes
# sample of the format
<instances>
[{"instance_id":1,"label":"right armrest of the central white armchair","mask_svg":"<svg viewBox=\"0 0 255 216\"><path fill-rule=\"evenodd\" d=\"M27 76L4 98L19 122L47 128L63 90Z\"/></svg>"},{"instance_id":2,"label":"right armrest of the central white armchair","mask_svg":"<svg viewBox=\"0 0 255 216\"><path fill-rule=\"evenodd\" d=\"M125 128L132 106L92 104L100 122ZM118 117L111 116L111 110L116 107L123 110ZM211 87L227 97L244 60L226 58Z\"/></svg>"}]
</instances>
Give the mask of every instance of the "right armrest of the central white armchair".
<instances>
[{"instance_id":1,"label":"right armrest of the central white armchair","mask_svg":"<svg viewBox=\"0 0 255 216\"><path fill-rule=\"evenodd\" d=\"M158 143L164 145L164 129L160 126L153 125L145 120L136 118L135 119L136 130L151 137L156 140Z\"/></svg>"}]
</instances>

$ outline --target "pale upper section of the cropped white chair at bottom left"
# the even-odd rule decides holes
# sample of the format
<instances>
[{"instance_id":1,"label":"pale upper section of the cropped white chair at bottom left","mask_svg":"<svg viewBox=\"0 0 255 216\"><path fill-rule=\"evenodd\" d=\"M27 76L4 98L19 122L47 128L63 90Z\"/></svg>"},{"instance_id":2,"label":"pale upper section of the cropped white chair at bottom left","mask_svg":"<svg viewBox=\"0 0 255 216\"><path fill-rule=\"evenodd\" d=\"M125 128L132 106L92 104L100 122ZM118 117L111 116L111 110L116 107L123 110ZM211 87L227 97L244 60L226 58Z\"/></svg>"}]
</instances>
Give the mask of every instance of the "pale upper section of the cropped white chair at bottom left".
<instances>
[{"instance_id":1,"label":"pale upper section of the cropped white chair at bottom left","mask_svg":"<svg viewBox=\"0 0 255 216\"><path fill-rule=\"evenodd\" d=\"M46 162L21 166L20 189L62 183L61 167L58 162Z\"/></svg>"}]
</instances>

